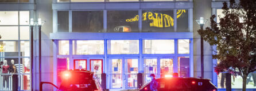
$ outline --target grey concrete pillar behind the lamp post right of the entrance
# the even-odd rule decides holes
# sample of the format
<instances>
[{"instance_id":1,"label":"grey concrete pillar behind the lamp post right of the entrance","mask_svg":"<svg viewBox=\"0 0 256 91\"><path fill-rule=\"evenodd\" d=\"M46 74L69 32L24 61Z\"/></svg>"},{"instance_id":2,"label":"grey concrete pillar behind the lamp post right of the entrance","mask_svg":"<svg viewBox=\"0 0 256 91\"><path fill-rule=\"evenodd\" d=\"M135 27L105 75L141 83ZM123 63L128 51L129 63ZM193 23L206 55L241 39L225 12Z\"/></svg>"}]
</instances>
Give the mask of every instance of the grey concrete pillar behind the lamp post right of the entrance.
<instances>
[{"instance_id":1,"label":"grey concrete pillar behind the lamp post right of the entrance","mask_svg":"<svg viewBox=\"0 0 256 91\"><path fill-rule=\"evenodd\" d=\"M208 19L205 27L210 27L210 17L212 15L212 0L193 0L193 56L194 56L194 77L201 76L201 53L200 53L200 35L197 30L199 24L195 21L200 17ZM204 78L212 79L212 47L204 42Z\"/></svg>"}]
</instances>

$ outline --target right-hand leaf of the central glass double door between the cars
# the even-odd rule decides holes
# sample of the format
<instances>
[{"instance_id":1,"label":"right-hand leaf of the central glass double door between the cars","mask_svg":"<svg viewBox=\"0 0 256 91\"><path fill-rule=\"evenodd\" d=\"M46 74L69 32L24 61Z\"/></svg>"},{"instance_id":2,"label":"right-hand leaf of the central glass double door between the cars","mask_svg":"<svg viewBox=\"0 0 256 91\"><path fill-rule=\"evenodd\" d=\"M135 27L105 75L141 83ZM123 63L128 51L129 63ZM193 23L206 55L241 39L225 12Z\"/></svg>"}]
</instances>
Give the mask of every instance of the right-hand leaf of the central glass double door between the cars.
<instances>
[{"instance_id":1,"label":"right-hand leaf of the central glass double door between the cars","mask_svg":"<svg viewBox=\"0 0 256 91\"><path fill-rule=\"evenodd\" d=\"M137 88L138 59L125 59L125 86Z\"/></svg>"}]
</instances>

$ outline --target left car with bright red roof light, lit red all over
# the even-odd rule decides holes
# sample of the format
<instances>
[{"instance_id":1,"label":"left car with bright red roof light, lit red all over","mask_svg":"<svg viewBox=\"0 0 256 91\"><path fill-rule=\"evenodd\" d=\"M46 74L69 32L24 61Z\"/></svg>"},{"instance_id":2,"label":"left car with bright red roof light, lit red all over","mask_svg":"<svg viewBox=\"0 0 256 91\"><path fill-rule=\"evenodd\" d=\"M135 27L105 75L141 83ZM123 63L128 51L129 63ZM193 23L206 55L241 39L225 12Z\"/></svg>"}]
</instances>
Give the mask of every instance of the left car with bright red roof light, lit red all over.
<instances>
[{"instance_id":1,"label":"left car with bright red roof light, lit red all over","mask_svg":"<svg viewBox=\"0 0 256 91\"><path fill-rule=\"evenodd\" d=\"M93 78L94 73L83 69L75 69L61 73L59 91L102 91L102 87Z\"/></svg>"}]
</instances>

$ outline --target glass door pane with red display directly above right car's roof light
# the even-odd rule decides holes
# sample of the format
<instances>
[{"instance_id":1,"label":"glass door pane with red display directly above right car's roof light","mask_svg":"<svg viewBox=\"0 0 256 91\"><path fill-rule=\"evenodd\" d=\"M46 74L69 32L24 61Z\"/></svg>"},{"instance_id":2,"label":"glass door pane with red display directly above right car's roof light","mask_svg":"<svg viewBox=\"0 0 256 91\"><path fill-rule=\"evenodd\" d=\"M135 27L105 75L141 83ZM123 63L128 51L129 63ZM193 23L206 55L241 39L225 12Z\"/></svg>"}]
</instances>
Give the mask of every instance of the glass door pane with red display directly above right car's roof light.
<instances>
[{"instance_id":1,"label":"glass door pane with red display directly above right car's roof light","mask_svg":"<svg viewBox=\"0 0 256 91\"><path fill-rule=\"evenodd\" d=\"M161 77L173 75L173 59L160 59Z\"/></svg>"}]
</instances>

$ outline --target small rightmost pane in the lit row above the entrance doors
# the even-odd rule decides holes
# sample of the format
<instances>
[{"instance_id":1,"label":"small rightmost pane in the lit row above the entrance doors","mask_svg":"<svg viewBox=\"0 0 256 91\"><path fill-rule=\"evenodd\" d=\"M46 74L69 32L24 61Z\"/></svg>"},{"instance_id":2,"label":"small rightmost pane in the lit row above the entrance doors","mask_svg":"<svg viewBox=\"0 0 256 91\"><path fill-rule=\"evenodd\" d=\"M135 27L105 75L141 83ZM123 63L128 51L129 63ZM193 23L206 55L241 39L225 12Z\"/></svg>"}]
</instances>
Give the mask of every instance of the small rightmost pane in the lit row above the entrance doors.
<instances>
[{"instance_id":1,"label":"small rightmost pane in the lit row above the entrance doors","mask_svg":"<svg viewBox=\"0 0 256 91\"><path fill-rule=\"evenodd\" d=\"M178 40L178 53L188 54L189 53L189 39Z\"/></svg>"}]
</instances>

